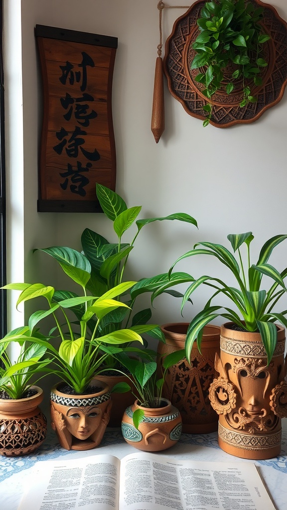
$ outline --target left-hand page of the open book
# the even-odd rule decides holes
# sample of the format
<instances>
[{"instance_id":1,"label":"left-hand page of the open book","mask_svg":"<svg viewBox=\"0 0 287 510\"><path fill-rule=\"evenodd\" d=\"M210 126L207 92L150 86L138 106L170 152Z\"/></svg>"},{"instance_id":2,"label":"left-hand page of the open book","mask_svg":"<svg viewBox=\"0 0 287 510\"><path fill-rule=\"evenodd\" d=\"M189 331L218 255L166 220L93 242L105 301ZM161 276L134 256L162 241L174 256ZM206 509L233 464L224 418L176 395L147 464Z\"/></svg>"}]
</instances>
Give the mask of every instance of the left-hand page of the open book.
<instances>
[{"instance_id":1,"label":"left-hand page of the open book","mask_svg":"<svg viewBox=\"0 0 287 510\"><path fill-rule=\"evenodd\" d=\"M112 455L38 462L18 510L118 510L119 465Z\"/></svg>"}]
</instances>

